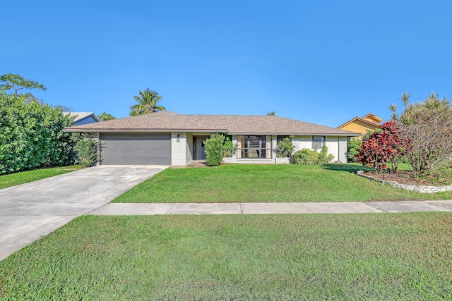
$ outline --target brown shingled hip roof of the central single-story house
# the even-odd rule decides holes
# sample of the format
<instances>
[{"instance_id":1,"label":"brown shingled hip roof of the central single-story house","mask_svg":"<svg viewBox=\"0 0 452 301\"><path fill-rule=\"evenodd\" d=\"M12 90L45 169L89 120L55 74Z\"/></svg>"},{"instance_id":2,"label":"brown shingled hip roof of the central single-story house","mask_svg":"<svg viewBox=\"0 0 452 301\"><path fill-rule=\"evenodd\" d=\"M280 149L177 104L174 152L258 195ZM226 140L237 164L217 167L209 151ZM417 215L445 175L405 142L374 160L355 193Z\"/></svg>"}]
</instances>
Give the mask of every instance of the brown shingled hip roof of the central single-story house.
<instances>
[{"instance_id":1,"label":"brown shingled hip roof of the central single-story house","mask_svg":"<svg viewBox=\"0 0 452 301\"><path fill-rule=\"evenodd\" d=\"M337 135L359 136L361 134L330 128L324 125L296 121L280 116L248 115L185 115L161 111L139 116L74 125L69 132L223 132L232 134L265 135Z\"/></svg>"}]
</instances>

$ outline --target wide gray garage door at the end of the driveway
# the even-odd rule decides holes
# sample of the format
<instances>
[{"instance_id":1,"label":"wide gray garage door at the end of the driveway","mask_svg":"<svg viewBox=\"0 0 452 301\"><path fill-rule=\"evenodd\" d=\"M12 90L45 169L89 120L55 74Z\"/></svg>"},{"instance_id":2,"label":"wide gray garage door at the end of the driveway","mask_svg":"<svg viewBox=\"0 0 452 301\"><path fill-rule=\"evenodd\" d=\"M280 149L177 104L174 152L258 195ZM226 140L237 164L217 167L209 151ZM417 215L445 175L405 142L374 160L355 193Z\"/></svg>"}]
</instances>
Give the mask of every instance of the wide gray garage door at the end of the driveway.
<instances>
[{"instance_id":1,"label":"wide gray garage door at the end of the driveway","mask_svg":"<svg viewBox=\"0 0 452 301\"><path fill-rule=\"evenodd\" d=\"M101 134L104 165L171 165L171 134Z\"/></svg>"}]
</instances>

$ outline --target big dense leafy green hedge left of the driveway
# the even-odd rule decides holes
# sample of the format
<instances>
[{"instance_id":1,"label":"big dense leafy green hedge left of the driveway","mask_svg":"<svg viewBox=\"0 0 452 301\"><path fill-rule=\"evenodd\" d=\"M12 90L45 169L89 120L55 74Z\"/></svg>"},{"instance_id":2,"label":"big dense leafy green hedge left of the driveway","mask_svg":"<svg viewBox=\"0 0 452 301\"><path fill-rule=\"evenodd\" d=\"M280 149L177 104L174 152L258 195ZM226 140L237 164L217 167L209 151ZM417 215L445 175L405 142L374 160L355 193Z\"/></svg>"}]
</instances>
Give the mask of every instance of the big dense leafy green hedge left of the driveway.
<instances>
[{"instance_id":1,"label":"big dense leafy green hedge left of the driveway","mask_svg":"<svg viewBox=\"0 0 452 301\"><path fill-rule=\"evenodd\" d=\"M69 125L61 109L0 90L0 174L71 164Z\"/></svg>"}]
</instances>

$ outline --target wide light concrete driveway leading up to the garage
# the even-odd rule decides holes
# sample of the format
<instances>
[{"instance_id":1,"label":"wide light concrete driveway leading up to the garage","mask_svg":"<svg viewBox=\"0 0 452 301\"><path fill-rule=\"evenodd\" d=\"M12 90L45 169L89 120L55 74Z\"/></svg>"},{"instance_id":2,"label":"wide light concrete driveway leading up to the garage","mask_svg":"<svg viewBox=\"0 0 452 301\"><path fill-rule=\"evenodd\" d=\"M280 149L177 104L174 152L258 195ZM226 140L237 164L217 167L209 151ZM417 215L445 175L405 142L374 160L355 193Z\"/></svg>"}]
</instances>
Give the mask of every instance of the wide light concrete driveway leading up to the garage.
<instances>
[{"instance_id":1,"label":"wide light concrete driveway leading up to the garage","mask_svg":"<svg viewBox=\"0 0 452 301\"><path fill-rule=\"evenodd\" d=\"M0 190L0 260L167 166L95 166Z\"/></svg>"}]
</instances>

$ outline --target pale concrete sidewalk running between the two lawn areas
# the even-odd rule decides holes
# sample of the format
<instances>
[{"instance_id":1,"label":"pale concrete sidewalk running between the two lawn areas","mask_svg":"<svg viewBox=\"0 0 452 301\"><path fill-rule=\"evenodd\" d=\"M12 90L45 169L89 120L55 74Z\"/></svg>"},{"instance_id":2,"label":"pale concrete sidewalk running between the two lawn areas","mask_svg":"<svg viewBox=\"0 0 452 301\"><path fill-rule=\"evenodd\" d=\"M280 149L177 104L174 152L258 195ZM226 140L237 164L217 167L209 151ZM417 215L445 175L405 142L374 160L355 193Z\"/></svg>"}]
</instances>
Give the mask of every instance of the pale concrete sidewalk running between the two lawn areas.
<instances>
[{"instance_id":1,"label":"pale concrete sidewalk running between the two lawn areas","mask_svg":"<svg viewBox=\"0 0 452 301\"><path fill-rule=\"evenodd\" d=\"M92 215L157 214L341 214L452 211L452 201L329 203L165 203L106 204Z\"/></svg>"}]
</instances>

